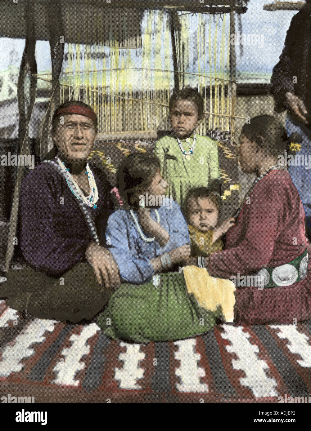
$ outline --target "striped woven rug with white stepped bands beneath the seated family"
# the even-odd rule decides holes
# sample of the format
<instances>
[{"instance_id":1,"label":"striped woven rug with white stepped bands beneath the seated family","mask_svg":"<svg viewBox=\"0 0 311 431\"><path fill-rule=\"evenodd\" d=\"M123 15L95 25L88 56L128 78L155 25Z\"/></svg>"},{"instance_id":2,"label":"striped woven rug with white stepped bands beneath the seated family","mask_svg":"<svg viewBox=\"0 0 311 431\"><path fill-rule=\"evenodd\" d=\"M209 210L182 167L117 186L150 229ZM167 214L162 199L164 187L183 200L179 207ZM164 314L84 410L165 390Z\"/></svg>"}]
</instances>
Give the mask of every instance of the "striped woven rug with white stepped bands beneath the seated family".
<instances>
[{"instance_id":1,"label":"striped woven rug with white stepped bands beneath the seated family","mask_svg":"<svg viewBox=\"0 0 311 431\"><path fill-rule=\"evenodd\" d=\"M36 403L276 403L310 391L311 321L224 324L142 345L110 340L94 322L22 319L0 303L0 395Z\"/></svg>"}]
</instances>

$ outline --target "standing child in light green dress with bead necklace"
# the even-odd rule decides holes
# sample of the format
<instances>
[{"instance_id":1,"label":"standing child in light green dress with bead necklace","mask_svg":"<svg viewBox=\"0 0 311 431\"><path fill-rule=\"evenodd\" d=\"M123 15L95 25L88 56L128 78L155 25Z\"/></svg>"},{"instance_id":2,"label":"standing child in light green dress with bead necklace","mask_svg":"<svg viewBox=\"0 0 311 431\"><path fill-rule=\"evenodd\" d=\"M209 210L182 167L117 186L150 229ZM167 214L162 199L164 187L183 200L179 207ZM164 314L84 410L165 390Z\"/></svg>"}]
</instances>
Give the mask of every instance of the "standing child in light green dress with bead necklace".
<instances>
[{"instance_id":1,"label":"standing child in light green dress with bead necklace","mask_svg":"<svg viewBox=\"0 0 311 431\"><path fill-rule=\"evenodd\" d=\"M195 133L204 118L203 97L185 87L170 98L173 132L157 141L154 154L160 160L162 178L169 184L167 194L179 206L191 188L207 187L219 178L218 147L215 141Z\"/></svg>"}]
</instances>

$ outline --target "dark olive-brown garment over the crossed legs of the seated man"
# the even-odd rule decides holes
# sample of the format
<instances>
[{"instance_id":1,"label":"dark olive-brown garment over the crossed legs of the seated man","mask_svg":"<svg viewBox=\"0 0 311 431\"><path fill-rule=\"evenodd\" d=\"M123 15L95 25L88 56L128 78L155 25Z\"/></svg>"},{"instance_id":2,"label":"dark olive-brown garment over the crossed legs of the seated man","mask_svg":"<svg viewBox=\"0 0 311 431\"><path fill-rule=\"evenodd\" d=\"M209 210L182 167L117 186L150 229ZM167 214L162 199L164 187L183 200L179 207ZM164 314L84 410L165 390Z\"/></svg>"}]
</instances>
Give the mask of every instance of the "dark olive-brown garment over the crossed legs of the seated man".
<instances>
[{"instance_id":1,"label":"dark olive-brown garment over the crossed legs of the seated man","mask_svg":"<svg viewBox=\"0 0 311 431\"><path fill-rule=\"evenodd\" d=\"M93 269L80 262L60 278L48 277L25 266L9 271L7 281L0 286L0 298L9 307L38 319L60 322L91 320L108 302L110 289L97 283Z\"/></svg>"}]
</instances>

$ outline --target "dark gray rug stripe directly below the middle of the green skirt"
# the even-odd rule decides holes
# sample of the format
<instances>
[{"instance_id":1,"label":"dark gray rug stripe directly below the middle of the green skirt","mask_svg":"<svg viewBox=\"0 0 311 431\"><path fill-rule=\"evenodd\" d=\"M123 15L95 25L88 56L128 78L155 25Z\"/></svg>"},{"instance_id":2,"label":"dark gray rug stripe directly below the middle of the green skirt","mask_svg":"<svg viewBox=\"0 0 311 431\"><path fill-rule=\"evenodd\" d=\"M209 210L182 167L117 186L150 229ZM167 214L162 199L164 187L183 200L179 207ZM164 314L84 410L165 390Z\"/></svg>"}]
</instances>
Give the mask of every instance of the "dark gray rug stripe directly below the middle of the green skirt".
<instances>
[{"instance_id":1,"label":"dark gray rug stripe directly below the middle of the green skirt","mask_svg":"<svg viewBox=\"0 0 311 431\"><path fill-rule=\"evenodd\" d=\"M158 341L155 345L157 365L154 366L151 389L154 392L170 392L170 349L168 343Z\"/></svg>"}]
</instances>

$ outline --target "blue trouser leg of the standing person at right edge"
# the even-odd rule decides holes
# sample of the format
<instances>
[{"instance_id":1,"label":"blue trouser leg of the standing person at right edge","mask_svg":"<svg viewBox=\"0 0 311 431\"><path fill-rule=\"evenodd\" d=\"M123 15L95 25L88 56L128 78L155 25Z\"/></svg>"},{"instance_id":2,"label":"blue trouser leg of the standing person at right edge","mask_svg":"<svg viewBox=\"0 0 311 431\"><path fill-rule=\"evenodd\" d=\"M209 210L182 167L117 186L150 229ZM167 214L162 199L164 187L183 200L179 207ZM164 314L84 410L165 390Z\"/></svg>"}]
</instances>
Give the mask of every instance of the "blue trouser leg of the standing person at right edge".
<instances>
[{"instance_id":1,"label":"blue trouser leg of the standing person at right edge","mask_svg":"<svg viewBox=\"0 0 311 431\"><path fill-rule=\"evenodd\" d=\"M308 166L309 158L311 162L311 131L289 115L286 116L286 129L289 135L293 132L301 134L302 147L297 156L307 156L304 157L305 166L289 166L289 175L302 200L308 229L311 232L311 169Z\"/></svg>"}]
</instances>

